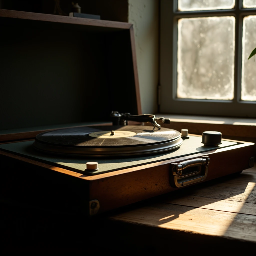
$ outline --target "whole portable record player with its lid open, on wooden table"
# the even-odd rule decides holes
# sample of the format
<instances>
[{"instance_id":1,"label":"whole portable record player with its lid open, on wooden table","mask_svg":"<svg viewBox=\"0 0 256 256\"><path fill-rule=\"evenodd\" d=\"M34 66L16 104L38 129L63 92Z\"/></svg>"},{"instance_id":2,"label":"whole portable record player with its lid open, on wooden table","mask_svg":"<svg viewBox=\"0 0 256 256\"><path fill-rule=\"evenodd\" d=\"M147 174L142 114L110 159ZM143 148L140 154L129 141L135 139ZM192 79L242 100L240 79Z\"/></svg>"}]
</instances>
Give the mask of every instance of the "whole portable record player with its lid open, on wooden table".
<instances>
[{"instance_id":1,"label":"whole portable record player with its lid open, on wooden table","mask_svg":"<svg viewBox=\"0 0 256 256\"><path fill-rule=\"evenodd\" d=\"M131 24L8 10L0 24L4 200L95 215L253 166L253 143L141 115Z\"/></svg>"}]
</instances>

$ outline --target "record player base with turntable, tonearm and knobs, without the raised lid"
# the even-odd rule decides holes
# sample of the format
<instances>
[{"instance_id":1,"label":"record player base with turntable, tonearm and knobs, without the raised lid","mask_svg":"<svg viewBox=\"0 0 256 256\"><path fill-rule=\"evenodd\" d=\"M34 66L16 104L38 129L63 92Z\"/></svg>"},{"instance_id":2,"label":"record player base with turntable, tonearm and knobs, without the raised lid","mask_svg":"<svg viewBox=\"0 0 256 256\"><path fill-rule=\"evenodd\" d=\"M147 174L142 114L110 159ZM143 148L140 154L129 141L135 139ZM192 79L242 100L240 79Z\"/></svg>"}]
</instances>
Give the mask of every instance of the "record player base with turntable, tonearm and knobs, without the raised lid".
<instances>
[{"instance_id":1,"label":"record player base with turntable, tonearm and knobs, without the raised lid","mask_svg":"<svg viewBox=\"0 0 256 256\"><path fill-rule=\"evenodd\" d=\"M154 115L120 116L154 125L72 127L1 144L6 180L22 181L15 197L18 189L30 203L35 196L40 206L94 215L253 166L253 143L180 134Z\"/></svg>"}]
</instances>

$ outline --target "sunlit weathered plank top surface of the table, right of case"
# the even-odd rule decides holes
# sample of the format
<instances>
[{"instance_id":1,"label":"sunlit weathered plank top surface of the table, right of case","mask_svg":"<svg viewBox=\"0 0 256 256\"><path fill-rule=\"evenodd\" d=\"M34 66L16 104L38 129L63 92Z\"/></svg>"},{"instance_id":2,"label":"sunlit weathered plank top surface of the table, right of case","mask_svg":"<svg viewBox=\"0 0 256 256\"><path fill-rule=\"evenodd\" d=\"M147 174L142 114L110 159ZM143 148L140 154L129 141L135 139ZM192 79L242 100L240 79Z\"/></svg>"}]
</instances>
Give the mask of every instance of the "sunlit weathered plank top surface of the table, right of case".
<instances>
[{"instance_id":1,"label":"sunlit weathered plank top surface of the table, right of case","mask_svg":"<svg viewBox=\"0 0 256 256\"><path fill-rule=\"evenodd\" d=\"M189 195L165 195L159 203L110 219L256 243L256 183L252 173L256 175L256 167L234 179L187 191Z\"/></svg>"}]
</instances>

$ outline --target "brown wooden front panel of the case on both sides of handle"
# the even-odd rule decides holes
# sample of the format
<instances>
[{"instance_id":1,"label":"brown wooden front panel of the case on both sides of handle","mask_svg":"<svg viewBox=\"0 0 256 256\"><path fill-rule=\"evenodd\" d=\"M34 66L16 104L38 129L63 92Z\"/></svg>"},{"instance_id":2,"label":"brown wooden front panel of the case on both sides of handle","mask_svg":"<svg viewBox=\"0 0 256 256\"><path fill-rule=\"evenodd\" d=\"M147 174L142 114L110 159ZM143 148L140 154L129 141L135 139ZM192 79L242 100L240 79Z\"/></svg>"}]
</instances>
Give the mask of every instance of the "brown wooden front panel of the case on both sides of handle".
<instances>
[{"instance_id":1,"label":"brown wooden front panel of the case on both sides of handle","mask_svg":"<svg viewBox=\"0 0 256 256\"><path fill-rule=\"evenodd\" d=\"M210 157L210 164L207 178L203 182L249 168L254 148L249 144L232 150L226 148L220 152L208 153L205 155ZM190 159L193 158L196 157L192 156ZM174 191L177 188L169 184L169 167L174 162L175 159L172 159L164 161L162 165L155 163L155 166L151 164L150 167L144 166L134 172L122 174L118 171L119 175L91 179L90 200L99 200L99 212L104 212Z\"/></svg>"}]
</instances>

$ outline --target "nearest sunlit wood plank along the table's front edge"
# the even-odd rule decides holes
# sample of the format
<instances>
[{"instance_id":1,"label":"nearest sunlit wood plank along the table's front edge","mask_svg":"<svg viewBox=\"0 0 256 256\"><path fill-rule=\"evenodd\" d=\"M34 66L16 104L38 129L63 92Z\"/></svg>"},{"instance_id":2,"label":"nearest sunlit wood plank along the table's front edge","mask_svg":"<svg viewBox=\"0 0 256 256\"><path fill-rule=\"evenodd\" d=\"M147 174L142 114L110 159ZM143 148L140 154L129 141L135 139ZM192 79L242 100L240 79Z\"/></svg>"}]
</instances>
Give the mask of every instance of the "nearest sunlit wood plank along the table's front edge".
<instances>
[{"instance_id":1,"label":"nearest sunlit wood plank along the table's front edge","mask_svg":"<svg viewBox=\"0 0 256 256\"><path fill-rule=\"evenodd\" d=\"M165 229L256 242L254 215L158 203L110 218Z\"/></svg>"}]
</instances>

